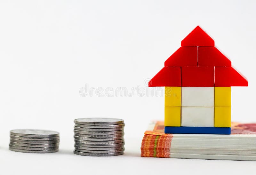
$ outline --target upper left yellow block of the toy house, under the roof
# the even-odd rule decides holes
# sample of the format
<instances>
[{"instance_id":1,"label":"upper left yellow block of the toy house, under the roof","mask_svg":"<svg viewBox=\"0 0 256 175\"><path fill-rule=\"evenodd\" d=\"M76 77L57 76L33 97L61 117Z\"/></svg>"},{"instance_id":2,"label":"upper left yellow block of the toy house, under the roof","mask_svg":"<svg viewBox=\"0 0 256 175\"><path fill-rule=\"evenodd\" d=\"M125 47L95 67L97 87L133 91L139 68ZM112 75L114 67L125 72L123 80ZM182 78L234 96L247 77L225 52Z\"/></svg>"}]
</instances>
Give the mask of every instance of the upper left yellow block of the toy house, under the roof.
<instances>
[{"instance_id":1,"label":"upper left yellow block of the toy house, under the roof","mask_svg":"<svg viewBox=\"0 0 256 175\"><path fill-rule=\"evenodd\" d=\"M170 107L181 106L181 87L165 87L164 106L170 106Z\"/></svg>"}]
</instances>

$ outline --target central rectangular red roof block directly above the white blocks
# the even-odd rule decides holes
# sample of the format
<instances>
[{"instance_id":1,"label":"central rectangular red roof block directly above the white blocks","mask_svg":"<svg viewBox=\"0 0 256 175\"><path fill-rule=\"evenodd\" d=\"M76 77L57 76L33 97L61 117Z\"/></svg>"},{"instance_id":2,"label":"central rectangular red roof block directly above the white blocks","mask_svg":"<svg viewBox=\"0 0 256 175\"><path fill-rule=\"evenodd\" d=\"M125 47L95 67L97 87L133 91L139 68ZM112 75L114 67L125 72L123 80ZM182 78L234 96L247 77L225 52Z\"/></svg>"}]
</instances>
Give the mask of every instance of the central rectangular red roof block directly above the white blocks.
<instances>
[{"instance_id":1,"label":"central rectangular red roof block directly above the white blocks","mask_svg":"<svg viewBox=\"0 0 256 175\"><path fill-rule=\"evenodd\" d=\"M181 86L214 87L214 67L181 67Z\"/></svg>"}]
</instances>

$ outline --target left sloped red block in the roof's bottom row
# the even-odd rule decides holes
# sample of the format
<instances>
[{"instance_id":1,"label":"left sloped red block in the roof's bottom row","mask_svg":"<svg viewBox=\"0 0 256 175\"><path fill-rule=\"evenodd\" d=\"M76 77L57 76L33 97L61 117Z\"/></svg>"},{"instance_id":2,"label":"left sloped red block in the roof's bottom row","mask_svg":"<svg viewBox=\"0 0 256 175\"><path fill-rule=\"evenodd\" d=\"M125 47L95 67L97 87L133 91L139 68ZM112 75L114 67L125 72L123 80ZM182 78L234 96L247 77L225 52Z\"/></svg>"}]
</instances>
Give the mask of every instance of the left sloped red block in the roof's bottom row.
<instances>
[{"instance_id":1,"label":"left sloped red block in the roof's bottom row","mask_svg":"<svg viewBox=\"0 0 256 175\"><path fill-rule=\"evenodd\" d=\"M180 67L164 67L149 82L148 87L181 86Z\"/></svg>"}]
</instances>

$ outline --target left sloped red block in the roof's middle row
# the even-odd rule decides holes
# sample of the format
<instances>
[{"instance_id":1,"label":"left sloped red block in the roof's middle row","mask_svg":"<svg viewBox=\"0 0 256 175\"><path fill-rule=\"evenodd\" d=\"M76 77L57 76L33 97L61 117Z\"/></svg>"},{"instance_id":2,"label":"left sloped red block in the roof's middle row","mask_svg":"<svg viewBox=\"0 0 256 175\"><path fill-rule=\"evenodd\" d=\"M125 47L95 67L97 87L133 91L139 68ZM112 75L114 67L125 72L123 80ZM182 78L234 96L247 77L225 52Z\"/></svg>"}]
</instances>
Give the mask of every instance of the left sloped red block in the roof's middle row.
<instances>
[{"instance_id":1,"label":"left sloped red block in the roof's middle row","mask_svg":"<svg viewBox=\"0 0 256 175\"><path fill-rule=\"evenodd\" d=\"M164 62L164 66L197 66L197 47L180 47Z\"/></svg>"}]
</instances>

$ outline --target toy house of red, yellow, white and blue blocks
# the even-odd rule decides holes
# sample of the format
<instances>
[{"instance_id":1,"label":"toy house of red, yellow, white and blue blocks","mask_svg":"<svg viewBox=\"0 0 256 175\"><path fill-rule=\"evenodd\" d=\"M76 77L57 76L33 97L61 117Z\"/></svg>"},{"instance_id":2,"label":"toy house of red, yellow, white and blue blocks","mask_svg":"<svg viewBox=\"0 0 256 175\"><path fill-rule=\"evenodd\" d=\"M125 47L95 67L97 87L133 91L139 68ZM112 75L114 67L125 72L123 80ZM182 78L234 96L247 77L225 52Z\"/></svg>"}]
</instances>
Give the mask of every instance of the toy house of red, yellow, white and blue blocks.
<instances>
[{"instance_id":1,"label":"toy house of red, yellow, white and blue blocks","mask_svg":"<svg viewBox=\"0 0 256 175\"><path fill-rule=\"evenodd\" d=\"M165 86L165 133L230 134L231 86L248 82L197 26L148 86Z\"/></svg>"}]
</instances>

